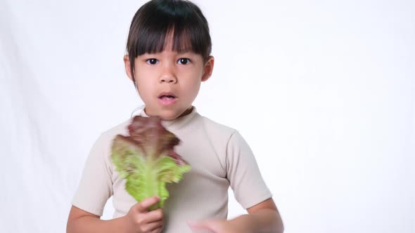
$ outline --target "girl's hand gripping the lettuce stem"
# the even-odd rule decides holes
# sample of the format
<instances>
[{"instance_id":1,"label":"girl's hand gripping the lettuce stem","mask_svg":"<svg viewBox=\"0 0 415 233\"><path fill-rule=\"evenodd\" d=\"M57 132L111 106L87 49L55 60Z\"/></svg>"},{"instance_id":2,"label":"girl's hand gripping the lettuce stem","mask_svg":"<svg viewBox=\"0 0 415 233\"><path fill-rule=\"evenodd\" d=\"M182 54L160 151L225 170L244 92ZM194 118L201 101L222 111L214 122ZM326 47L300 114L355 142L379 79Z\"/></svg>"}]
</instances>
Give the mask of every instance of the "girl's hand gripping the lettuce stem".
<instances>
[{"instance_id":1,"label":"girl's hand gripping the lettuce stem","mask_svg":"<svg viewBox=\"0 0 415 233\"><path fill-rule=\"evenodd\" d=\"M125 215L126 233L160 233L162 231L162 209L148 211L158 203L159 197L149 197L132 206Z\"/></svg>"}]
</instances>

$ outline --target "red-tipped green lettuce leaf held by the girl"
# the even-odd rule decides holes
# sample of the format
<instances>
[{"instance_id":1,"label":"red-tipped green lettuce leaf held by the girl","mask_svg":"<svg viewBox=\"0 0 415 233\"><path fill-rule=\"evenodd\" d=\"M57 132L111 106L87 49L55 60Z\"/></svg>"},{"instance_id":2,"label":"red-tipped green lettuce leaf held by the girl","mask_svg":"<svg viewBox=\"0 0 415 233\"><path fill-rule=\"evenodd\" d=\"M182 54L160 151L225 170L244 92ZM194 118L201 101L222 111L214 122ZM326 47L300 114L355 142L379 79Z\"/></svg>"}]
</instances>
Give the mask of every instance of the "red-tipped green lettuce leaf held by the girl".
<instances>
[{"instance_id":1,"label":"red-tipped green lettuce leaf held by the girl","mask_svg":"<svg viewBox=\"0 0 415 233\"><path fill-rule=\"evenodd\" d=\"M127 180L125 189L136 201L158 196L160 201L151 210L163 208L169 197L166 183L179 182L191 168L174 152L180 140L156 116L135 116L128 130L129 136L113 140L115 171Z\"/></svg>"}]
</instances>

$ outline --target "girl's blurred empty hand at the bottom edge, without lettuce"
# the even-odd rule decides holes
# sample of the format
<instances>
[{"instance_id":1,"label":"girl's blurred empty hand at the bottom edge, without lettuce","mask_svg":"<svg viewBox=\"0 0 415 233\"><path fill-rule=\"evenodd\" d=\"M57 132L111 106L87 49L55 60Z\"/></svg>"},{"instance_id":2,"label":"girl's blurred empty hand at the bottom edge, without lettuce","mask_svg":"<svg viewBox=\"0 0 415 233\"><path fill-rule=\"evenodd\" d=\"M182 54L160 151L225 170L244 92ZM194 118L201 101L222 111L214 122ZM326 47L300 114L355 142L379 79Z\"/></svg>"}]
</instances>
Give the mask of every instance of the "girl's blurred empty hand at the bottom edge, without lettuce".
<instances>
[{"instance_id":1,"label":"girl's blurred empty hand at the bottom edge, without lettuce","mask_svg":"<svg viewBox=\"0 0 415 233\"><path fill-rule=\"evenodd\" d=\"M243 227L236 226L228 220L202 220L189 222L189 227L193 232L210 231L212 233L248 233Z\"/></svg>"}]
</instances>

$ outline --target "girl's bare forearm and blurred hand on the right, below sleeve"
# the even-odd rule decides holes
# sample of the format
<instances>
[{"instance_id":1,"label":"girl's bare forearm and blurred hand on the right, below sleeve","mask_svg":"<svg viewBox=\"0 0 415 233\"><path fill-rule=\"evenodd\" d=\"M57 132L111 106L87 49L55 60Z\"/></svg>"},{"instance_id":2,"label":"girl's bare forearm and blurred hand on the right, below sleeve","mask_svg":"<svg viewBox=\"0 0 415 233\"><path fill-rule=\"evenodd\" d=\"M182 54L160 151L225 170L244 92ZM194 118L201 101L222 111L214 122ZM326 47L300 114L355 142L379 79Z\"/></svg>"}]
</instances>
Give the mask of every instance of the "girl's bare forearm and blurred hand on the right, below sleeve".
<instances>
[{"instance_id":1,"label":"girl's bare forearm and blurred hand on the right, below sleeve","mask_svg":"<svg viewBox=\"0 0 415 233\"><path fill-rule=\"evenodd\" d=\"M248 214L232 220L205 220L189 224L193 229L215 233L282 233L283 222L272 199L247 209Z\"/></svg>"}]
</instances>

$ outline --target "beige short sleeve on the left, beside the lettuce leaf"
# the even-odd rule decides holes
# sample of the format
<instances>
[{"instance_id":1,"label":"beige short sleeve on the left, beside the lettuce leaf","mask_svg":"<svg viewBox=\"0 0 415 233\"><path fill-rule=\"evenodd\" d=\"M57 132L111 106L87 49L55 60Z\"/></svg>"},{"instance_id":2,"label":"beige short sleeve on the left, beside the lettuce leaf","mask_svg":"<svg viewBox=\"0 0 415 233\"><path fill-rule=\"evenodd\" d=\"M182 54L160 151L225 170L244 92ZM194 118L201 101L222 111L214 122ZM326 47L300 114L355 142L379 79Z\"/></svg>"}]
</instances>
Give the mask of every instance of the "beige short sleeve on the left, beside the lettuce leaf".
<instances>
[{"instance_id":1,"label":"beige short sleeve on the left, beside the lettuce leaf","mask_svg":"<svg viewBox=\"0 0 415 233\"><path fill-rule=\"evenodd\" d=\"M79 187L72 199L77 208L102 216L103 208L113 195L110 145L112 139L101 134L89 152Z\"/></svg>"}]
</instances>

